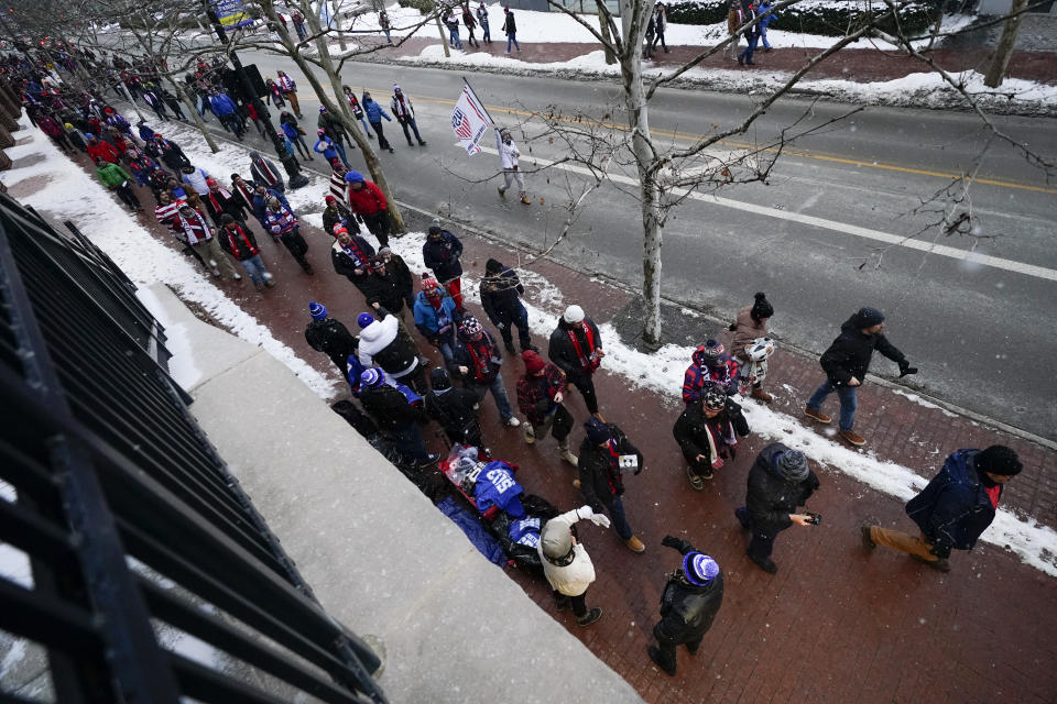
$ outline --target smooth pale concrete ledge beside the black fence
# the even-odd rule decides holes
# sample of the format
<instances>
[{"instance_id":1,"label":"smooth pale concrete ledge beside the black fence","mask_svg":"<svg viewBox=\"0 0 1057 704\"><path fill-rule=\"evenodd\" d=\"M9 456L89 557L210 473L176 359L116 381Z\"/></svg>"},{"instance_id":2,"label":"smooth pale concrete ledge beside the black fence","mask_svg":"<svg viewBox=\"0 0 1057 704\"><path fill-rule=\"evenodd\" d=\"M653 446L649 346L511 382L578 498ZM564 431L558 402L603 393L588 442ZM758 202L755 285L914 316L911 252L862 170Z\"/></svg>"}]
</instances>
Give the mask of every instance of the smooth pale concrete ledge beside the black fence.
<instances>
[{"instance_id":1,"label":"smooth pale concrete ledge beside the black fence","mask_svg":"<svg viewBox=\"0 0 1057 704\"><path fill-rule=\"evenodd\" d=\"M285 366L152 290L194 415L324 607L382 644L390 701L642 701Z\"/></svg>"}]
</instances>

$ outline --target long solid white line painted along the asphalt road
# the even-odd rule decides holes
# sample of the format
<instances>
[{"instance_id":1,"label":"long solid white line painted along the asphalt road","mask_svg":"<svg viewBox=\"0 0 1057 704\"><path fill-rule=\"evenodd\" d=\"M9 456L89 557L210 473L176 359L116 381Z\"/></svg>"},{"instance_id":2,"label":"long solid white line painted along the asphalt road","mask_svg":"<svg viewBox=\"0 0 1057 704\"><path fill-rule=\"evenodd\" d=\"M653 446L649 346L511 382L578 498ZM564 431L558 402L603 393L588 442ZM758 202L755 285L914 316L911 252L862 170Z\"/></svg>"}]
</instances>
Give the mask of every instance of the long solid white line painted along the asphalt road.
<instances>
[{"instance_id":1,"label":"long solid white line painted along the asphalt road","mask_svg":"<svg viewBox=\"0 0 1057 704\"><path fill-rule=\"evenodd\" d=\"M497 156L499 155L498 151L489 146L481 146L481 151L487 152L489 154L494 154ZM536 165L540 165L540 166L553 166L554 168L560 168L560 169L577 173L577 174L584 174L587 176L591 176L593 178L593 174L591 174L589 169L582 166L577 166L575 164L556 164L555 162L541 158L537 156L531 156L528 157L527 161L535 162ZM609 178L612 180L619 182L621 184L626 184L632 186L636 186L639 183L638 180L631 178L630 176L624 176L623 174L610 174ZM711 194L687 191L687 189L684 189L684 188L673 188L672 191L679 196L688 195L689 198L693 198L695 200L700 200L702 202L713 205L713 206L720 206L723 208L730 208L732 210L741 210L743 212L751 212L758 216L777 218L778 220L797 222L799 224L821 228L824 230L830 230L832 232L840 232L843 234L850 234L850 235L863 238L867 240L874 240L875 242L884 242L885 244L902 246L907 250L916 250L918 252L926 252L928 254L938 254L939 256L946 256L952 260L971 262L973 264L990 266L992 268L999 268L1006 272L1024 274L1025 276L1033 276L1035 278L1057 282L1057 271L1051 268L1046 268L1043 266L1035 266L1034 264L1024 264L1023 262L1004 260L998 256L991 256L990 254L980 254L979 252L959 250L957 248L947 246L946 244L930 244L928 242L919 242L917 240L914 240L904 235L892 234L890 232L882 232L881 230L872 230L870 228L861 228L859 226L848 224L846 222L837 222L836 220L827 220L826 218L806 216L798 212L789 212L787 210L778 210L777 208L758 206L750 202L742 202L740 200L731 200L730 198L721 198L719 196L713 196Z\"/></svg>"}]
</instances>

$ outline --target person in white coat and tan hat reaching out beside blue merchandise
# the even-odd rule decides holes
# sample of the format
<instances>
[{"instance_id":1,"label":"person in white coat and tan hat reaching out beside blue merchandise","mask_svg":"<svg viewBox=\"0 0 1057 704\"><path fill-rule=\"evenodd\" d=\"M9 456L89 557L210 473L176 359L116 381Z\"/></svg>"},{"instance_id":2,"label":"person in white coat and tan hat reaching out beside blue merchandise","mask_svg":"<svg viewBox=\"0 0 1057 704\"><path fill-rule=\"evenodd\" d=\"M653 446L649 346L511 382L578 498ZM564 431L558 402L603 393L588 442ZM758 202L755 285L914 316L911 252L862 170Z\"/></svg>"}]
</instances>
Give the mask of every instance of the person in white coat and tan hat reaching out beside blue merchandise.
<instances>
[{"instance_id":1,"label":"person in white coat and tan hat reaching out beside blue merchandise","mask_svg":"<svg viewBox=\"0 0 1057 704\"><path fill-rule=\"evenodd\" d=\"M578 520L590 520L596 526L609 528L609 518L596 514L590 506L580 506L548 520L543 526L536 550L543 562L543 573L554 590L558 610L571 608L577 624L590 626L602 617L602 608L587 608L587 587L595 582L595 565L587 548L574 534L573 525Z\"/></svg>"}]
</instances>

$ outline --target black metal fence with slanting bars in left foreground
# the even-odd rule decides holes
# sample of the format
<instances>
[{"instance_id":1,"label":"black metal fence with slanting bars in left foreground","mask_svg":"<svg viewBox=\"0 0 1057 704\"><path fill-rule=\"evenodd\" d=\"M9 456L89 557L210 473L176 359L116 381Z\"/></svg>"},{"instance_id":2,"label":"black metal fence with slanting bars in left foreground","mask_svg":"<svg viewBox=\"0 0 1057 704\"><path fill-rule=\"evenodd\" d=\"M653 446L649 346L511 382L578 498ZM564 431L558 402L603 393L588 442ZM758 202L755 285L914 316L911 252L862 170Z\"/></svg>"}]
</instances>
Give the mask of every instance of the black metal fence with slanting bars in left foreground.
<instances>
[{"instance_id":1,"label":"black metal fence with slanting bars in left foreground","mask_svg":"<svg viewBox=\"0 0 1057 704\"><path fill-rule=\"evenodd\" d=\"M32 574L0 575L0 629L46 649L59 702L384 702L188 414L162 327L67 228L0 194L0 541Z\"/></svg>"}]
</instances>

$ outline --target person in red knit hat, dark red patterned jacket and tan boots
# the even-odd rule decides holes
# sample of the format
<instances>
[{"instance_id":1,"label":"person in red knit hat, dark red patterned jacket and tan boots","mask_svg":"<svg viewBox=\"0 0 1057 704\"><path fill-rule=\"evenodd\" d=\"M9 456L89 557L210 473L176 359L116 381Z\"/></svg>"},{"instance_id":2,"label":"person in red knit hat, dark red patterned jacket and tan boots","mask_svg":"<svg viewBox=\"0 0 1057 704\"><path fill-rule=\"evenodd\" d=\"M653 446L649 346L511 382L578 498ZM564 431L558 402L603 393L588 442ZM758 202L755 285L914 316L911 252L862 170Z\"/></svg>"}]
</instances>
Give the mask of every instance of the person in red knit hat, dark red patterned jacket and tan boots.
<instances>
[{"instance_id":1,"label":"person in red knit hat, dark red patterned jacket and tan boots","mask_svg":"<svg viewBox=\"0 0 1057 704\"><path fill-rule=\"evenodd\" d=\"M517 380L517 408L528 422L525 425L525 444L544 439L547 431L558 441L563 460L577 466L579 459L569 450L573 414L562 404L568 383L565 374L551 362L544 362L533 350L521 353L525 375Z\"/></svg>"}]
</instances>

